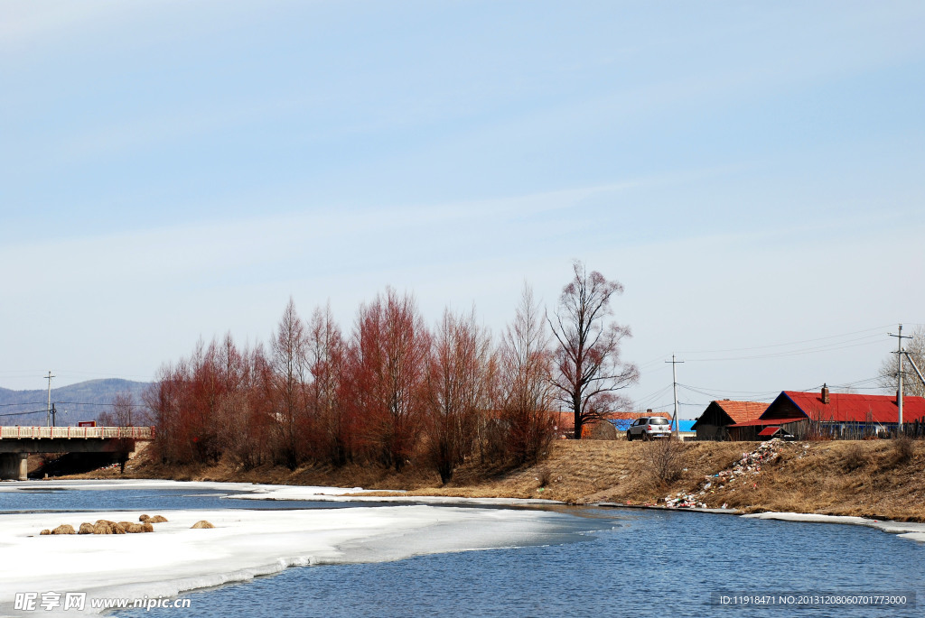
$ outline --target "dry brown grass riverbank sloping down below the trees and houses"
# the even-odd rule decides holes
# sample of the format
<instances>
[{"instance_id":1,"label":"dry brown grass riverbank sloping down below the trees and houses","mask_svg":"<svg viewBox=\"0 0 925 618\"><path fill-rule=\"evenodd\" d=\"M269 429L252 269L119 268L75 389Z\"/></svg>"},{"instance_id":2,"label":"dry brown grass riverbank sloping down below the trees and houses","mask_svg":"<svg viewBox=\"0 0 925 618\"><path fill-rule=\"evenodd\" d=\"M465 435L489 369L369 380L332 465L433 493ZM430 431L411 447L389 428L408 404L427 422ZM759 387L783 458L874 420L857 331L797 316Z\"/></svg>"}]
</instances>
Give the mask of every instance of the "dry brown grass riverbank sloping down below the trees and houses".
<instances>
[{"instance_id":1,"label":"dry brown grass riverbank sloping down below the trees and houses","mask_svg":"<svg viewBox=\"0 0 925 618\"><path fill-rule=\"evenodd\" d=\"M411 495L547 498L567 503L657 504L679 491L710 507L746 512L792 511L925 521L925 444L912 442L789 442L779 455L733 481L712 475L728 469L758 442L691 442L669 459L659 444L624 441L554 442L549 456L529 467L504 469L475 462L440 486L436 472L406 467L283 467L239 470L216 466L166 467L143 454L124 476L107 469L79 478L220 480L407 490ZM672 459L673 457L673 459ZM660 474L657 473L660 471ZM706 477L710 479L706 479ZM659 478L661 477L661 478ZM706 483L710 483L705 490Z\"/></svg>"}]
</instances>

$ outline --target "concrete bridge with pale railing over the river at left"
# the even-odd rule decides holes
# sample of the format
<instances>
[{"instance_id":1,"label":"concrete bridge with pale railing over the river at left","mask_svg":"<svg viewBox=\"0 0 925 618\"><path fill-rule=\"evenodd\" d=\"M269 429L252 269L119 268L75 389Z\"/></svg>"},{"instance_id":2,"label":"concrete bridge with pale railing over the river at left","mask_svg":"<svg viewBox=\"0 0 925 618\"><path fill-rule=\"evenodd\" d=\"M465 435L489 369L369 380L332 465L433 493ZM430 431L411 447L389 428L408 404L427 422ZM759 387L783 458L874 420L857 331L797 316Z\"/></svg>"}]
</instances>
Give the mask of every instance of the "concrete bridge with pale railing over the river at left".
<instances>
[{"instance_id":1,"label":"concrete bridge with pale railing over the river at left","mask_svg":"<svg viewBox=\"0 0 925 618\"><path fill-rule=\"evenodd\" d=\"M130 457L153 427L0 427L0 480L26 480L30 453L112 453Z\"/></svg>"}]
</instances>

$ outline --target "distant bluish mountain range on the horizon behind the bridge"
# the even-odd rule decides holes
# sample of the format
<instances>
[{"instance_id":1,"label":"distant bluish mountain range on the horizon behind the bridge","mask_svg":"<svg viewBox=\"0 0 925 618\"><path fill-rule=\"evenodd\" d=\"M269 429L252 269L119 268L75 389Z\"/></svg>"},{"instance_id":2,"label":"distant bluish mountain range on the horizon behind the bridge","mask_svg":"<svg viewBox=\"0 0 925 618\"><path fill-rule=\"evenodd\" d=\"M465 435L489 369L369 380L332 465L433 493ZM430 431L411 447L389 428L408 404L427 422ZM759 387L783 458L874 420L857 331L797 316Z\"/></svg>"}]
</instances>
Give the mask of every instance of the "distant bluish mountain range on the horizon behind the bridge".
<instances>
[{"instance_id":1,"label":"distant bluish mountain range on the horizon behind the bridge","mask_svg":"<svg viewBox=\"0 0 925 618\"><path fill-rule=\"evenodd\" d=\"M88 380L52 389L56 405L56 424L76 425L80 420L95 420L108 410L113 397L131 394L135 403L142 403L142 393L151 382L130 380ZM0 425L44 425L48 391L11 391L0 388Z\"/></svg>"}]
</instances>

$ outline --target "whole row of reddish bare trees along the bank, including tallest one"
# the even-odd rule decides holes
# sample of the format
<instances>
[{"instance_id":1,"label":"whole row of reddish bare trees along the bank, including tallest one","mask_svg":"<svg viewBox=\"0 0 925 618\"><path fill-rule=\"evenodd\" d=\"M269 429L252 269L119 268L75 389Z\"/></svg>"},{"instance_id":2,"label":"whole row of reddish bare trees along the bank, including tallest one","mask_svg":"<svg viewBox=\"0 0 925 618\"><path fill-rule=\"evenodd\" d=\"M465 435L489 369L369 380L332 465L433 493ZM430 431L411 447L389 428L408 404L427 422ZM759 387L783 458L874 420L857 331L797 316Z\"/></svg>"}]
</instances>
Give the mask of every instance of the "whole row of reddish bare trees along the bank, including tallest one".
<instances>
[{"instance_id":1,"label":"whole row of reddish bare trees along the bank, including tallest one","mask_svg":"<svg viewBox=\"0 0 925 618\"><path fill-rule=\"evenodd\" d=\"M351 333L330 308L306 321L290 303L268 345L230 335L162 367L145 397L166 461L243 467L273 462L401 470L420 458L443 482L468 457L523 463L553 435L556 400L582 426L623 406L637 370L623 363L629 330L612 321L623 288L573 265L547 315L528 287L499 341L475 310L446 310L428 328L413 297L388 288L357 312Z\"/></svg>"}]
</instances>

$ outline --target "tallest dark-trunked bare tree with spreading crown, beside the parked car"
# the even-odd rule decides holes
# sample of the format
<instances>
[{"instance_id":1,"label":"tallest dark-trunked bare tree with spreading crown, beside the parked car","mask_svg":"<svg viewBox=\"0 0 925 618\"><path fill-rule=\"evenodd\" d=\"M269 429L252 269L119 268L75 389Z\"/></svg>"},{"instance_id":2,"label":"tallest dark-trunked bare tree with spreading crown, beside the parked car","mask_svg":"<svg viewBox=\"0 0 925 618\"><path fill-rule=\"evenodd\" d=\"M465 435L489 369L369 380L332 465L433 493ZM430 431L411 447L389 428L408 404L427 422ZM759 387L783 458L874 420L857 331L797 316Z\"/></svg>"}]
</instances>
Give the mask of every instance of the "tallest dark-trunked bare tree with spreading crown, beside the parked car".
<instances>
[{"instance_id":1,"label":"tallest dark-trunked bare tree with spreading crown, beside the parked car","mask_svg":"<svg viewBox=\"0 0 925 618\"><path fill-rule=\"evenodd\" d=\"M558 342L556 396L573 411L574 438L580 440L588 421L628 403L619 392L638 381L639 370L620 357L629 327L609 321L611 299L623 294L623 285L597 271L587 273L580 261L573 262L573 273L562 288L555 319L547 321Z\"/></svg>"}]
</instances>

